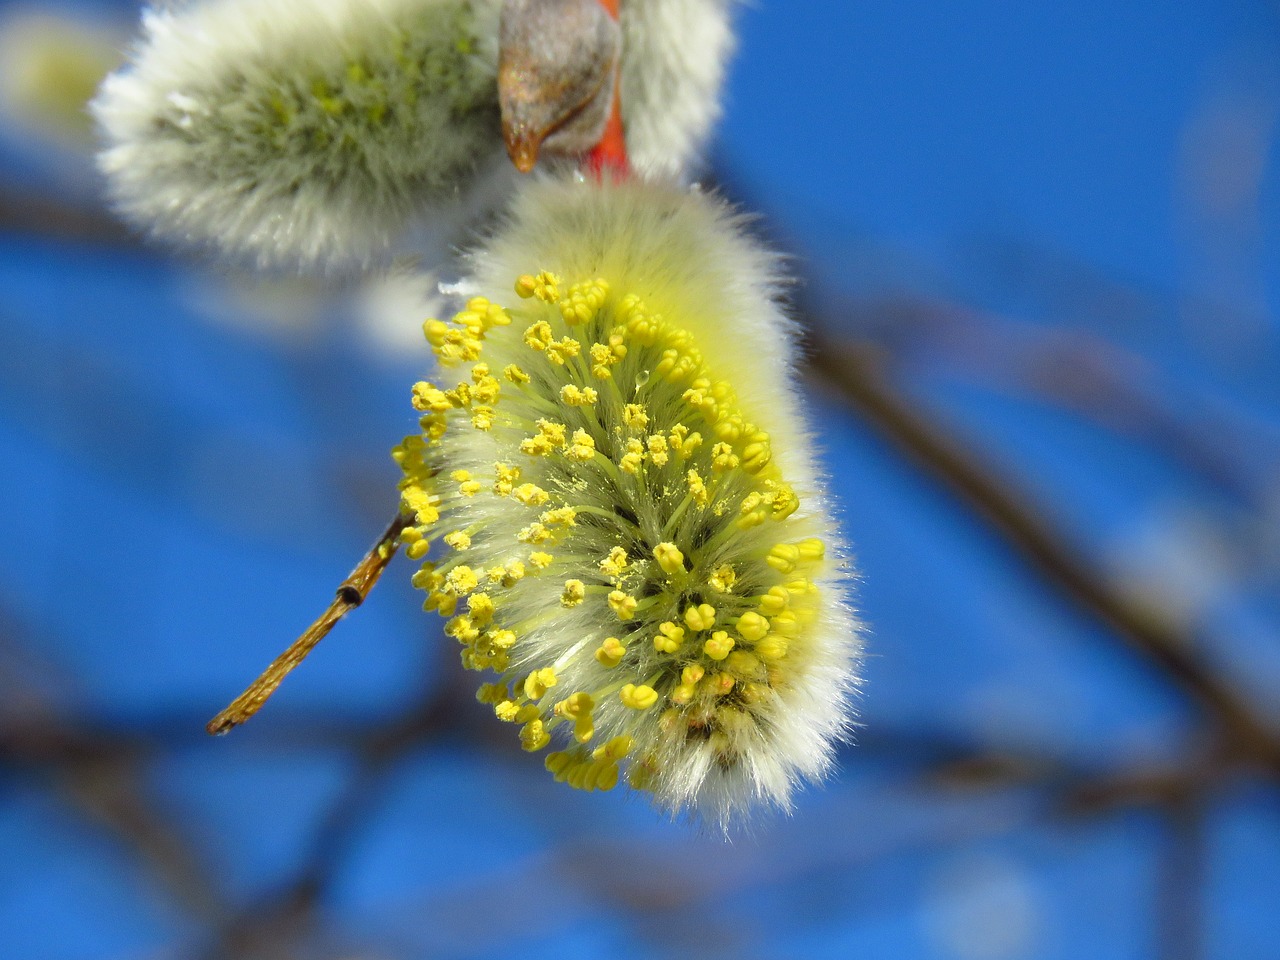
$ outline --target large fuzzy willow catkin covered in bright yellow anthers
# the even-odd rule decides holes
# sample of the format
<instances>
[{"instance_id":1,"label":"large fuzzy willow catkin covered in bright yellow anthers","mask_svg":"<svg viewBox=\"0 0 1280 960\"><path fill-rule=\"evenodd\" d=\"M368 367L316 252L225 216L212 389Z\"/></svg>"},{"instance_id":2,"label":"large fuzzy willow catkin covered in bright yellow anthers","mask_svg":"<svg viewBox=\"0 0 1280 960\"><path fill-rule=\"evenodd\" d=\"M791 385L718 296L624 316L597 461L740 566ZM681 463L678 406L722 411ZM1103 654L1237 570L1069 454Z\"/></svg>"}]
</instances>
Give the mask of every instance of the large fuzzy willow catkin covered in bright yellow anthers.
<instances>
[{"instance_id":1,"label":"large fuzzy willow catkin covered in bright yellow anthers","mask_svg":"<svg viewBox=\"0 0 1280 960\"><path fill-rule=\"evenodd\" d=\"M849 731L852 571L773 256L660 184L532 183L428 339L404 470L415 584L548 769L730 828ZM518 278L518 279L517 279ZM512 284L515 282L515 291Z\"/></svg>"}]
</instances>

